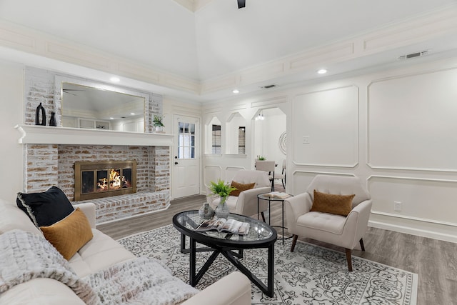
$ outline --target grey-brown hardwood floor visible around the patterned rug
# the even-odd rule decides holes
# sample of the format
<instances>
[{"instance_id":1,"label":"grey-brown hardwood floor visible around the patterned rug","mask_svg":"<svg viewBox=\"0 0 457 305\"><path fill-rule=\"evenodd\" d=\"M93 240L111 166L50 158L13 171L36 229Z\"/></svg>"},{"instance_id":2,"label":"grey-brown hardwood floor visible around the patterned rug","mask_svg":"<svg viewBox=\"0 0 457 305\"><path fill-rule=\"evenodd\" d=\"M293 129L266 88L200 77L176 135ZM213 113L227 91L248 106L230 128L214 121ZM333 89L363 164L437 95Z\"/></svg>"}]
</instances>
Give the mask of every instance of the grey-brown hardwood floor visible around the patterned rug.
<instances>
[{"instance_id":1,"label":"grey-brown hardwood floor visible around the patterned rug","mask_svg":"<svg viewBox=\"0 0 457 305\"><path fill-rule=\"evenodd\" d=\"M101 224L97 229L113 239L121 239L171 224L176 213L199 209L204 201L206 197L200 195L177 199L171 201L166 211ZM268 221L268 216L266 219ZM279 204L271 205L271 224L281 224ZM278 233L281 234L281 229L278 229ZM309 239L300 240L344 253L344 249L336 246ZM457 304L457 244L372 227L368 227L363 241L366 251L354 250L353 256L418 274L417 304Z\"/></svg>"}]
</instances>

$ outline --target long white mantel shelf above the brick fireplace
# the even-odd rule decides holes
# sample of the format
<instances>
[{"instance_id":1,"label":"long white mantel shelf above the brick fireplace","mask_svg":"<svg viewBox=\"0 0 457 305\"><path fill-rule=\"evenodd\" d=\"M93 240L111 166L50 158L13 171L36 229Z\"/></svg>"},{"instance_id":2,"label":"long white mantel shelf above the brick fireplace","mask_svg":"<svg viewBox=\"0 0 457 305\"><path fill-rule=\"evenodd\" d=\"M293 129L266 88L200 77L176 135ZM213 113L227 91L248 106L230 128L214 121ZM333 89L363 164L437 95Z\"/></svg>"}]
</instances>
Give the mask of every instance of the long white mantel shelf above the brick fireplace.
<instances>
[{"instance_id":1,"label":"long white mantel shelf above the brick fireplace","mask_svg":"<svg viewBox=\"0 0 457 305\"><path fill-rule=\"evenodd\" d=\"M19 144L138 145L173 146L173 134L79 129L67 127L16 125L21 133Z\"/></svg>"}]
</instances>

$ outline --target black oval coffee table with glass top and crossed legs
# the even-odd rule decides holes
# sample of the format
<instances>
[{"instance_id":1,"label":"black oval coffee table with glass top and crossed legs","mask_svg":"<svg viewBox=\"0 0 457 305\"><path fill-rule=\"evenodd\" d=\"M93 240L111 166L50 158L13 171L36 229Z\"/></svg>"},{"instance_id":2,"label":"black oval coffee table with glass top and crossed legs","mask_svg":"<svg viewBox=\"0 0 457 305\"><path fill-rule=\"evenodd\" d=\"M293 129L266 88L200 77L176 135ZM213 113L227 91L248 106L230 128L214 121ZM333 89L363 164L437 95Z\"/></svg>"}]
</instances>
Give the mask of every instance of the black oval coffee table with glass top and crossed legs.
<instances>
[{"instance_id":1,"label":"black oval coffee table with glass top and crossed legs","mask_svg":"<svg viewBox=\"0 0 457 305\"><path fill-rule=\"evenodd\" d=\"M201 277L209 269L219 254L228 259L233 266L256 284L267 296L273 296L273 276L274 276L274 243L277 239L276 230L268 224L257 219L238 214L229 214L229 219L247 222L250 225L248 234L238 235L217 231L196 231L202 219L199 211L184 211L173 217L174 227L181 232L181 252L189 253L189 284L196 286ZM189 249L186 249L186 236L189 236ZM207 247L197 248L196 243ZM238 260L243 257L243 249L268 249L268 277L267 284L263 284L246 266ZM196 274L196 252L213 251L208 261L201 267ZM238 251L234 252L234 251Z\"/></svg>"}]
</instances>

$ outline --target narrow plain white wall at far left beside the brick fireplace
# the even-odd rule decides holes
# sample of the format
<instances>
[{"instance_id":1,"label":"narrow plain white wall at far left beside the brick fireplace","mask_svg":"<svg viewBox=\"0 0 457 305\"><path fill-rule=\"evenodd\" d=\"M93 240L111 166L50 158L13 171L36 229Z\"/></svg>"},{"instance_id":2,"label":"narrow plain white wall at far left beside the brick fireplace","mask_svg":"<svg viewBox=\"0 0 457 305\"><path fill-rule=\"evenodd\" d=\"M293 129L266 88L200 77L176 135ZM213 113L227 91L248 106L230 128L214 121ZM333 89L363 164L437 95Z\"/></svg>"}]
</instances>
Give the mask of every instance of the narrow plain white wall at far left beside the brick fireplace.
<instances>
[{"instance_id":1,"label":"narrow plain white wall at far left beside the brick fireplace","mask_svg":"<svg viewBox=\"0 0 457 305\"><path fill-rule=\"evenodd\" d=\"M24 122L24 66L0 60L0 199L16 202L22 191L22 145L16 124Z\"/></svg>"}]
</instances>

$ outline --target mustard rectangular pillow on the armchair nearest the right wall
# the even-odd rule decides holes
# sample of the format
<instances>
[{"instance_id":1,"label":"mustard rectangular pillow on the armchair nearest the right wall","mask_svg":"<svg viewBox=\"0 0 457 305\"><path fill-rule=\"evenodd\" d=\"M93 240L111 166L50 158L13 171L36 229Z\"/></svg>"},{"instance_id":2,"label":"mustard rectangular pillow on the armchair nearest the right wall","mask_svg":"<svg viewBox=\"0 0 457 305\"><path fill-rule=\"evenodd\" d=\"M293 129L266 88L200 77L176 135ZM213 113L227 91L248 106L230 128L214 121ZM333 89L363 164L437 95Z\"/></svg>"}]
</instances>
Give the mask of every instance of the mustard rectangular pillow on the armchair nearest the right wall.
<instances>
[{"instance_id":1,"label":"mustard rectangular pillow on the armchair nearest the right wall","mask_svg":"<svg viewBox=\"0 0 457 305\"><path fill-rule=\"evenodd\" d=\"M348 216L351 213L354 196L356 195L326 194L314 190L313 206L310 211Z\"/></svg>"}]
</instances>

